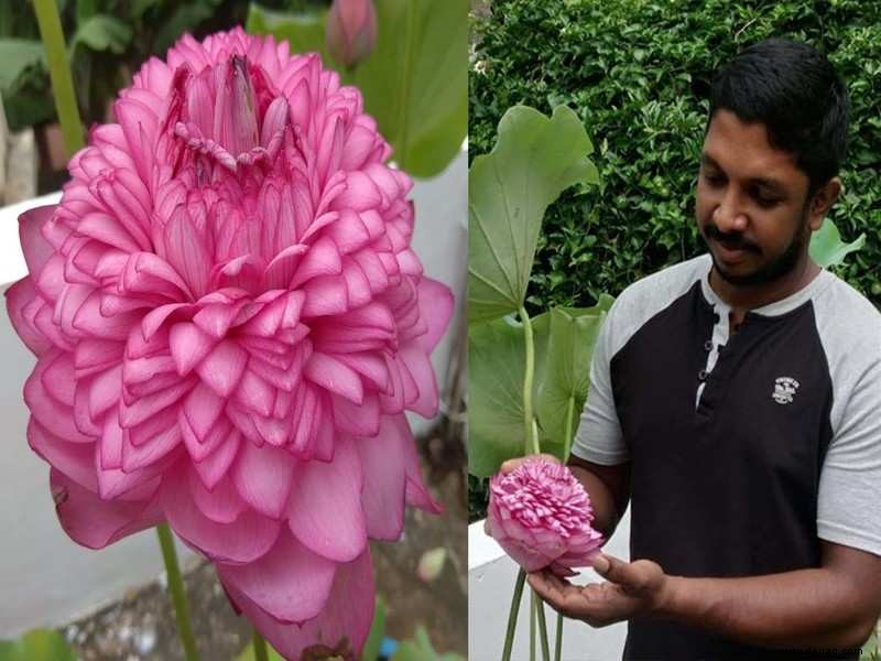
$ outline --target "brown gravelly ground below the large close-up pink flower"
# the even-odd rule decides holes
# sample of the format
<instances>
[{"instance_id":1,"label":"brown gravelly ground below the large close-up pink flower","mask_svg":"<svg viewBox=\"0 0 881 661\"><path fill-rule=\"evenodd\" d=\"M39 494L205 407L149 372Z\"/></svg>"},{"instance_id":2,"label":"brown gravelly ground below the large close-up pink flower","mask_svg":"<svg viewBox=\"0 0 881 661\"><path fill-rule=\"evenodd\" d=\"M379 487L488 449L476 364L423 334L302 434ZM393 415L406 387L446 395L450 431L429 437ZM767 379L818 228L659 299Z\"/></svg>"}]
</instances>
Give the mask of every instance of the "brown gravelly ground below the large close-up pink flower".
<instances>
[{"instance_id":1,"label":"brown gravelly ground below the large close-up pink flower","mask_svg":"<svg viewBox=\"0 0 881 661\"><path fill-rule=\"evenodd\" d=\"M416 625L424 624L435 649L466 655L465 453L458 438L444 441L440 430L429 435L422 447L427 481L445 512L434 517L411 509L400 542L371 545L378 589L387 602L387 635L409 638ZM447 549L447 560L437 578L425 583L417 577L416 567L423 553L437 546ZM251 628L229 606L214 567L205 561L194 561L184 567L184 581L202 660L235 659L248 642ZM81 661L184 659L164 576L61 630Z\"/></svg>"}]
</instances>

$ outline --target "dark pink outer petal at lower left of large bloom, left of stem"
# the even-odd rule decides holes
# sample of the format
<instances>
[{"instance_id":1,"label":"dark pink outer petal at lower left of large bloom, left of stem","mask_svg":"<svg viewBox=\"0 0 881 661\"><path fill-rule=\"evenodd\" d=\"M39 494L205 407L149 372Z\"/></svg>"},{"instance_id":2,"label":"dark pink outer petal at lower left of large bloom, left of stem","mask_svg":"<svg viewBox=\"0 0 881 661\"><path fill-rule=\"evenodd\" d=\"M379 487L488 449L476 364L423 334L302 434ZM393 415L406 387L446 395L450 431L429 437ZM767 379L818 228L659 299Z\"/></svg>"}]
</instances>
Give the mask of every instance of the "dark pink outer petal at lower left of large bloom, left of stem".
<instances>
[{"instance_id":1,"label":"dark pink outer petal at lower left of large bloom, left of stem","mask_svg":"<svg viewBox=\"0 0 881 661\"><path fill-rule=\"evenodd\" d=\"M155 496L142 500L101 500L54 468L50 484L62 528L77 544L88 549L104 549L163 520Z\"/></svg>"}]
</instances>

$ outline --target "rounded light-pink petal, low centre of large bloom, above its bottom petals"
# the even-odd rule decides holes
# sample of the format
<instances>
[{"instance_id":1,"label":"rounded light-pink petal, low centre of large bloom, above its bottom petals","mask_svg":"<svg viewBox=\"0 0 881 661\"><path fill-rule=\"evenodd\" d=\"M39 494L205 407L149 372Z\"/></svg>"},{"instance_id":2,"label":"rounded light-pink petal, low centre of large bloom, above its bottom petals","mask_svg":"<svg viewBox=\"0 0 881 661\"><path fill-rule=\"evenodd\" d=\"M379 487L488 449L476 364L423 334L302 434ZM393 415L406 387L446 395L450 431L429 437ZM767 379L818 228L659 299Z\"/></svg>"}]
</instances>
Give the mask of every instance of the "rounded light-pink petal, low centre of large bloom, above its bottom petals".
<instances>
[{"instance_id":1,"label":"rounded light-pink petal, low centre of large bloom, above its bottom petals","mask_svg":"<svg viewBox=\"0 0 881 661\"><path fill-rule=\"evenodd\" d=\"M284 449L246 443L231 468L232 484L257 511L281 519L291 495L295 462Z\"/></svg>"}]
</instances>

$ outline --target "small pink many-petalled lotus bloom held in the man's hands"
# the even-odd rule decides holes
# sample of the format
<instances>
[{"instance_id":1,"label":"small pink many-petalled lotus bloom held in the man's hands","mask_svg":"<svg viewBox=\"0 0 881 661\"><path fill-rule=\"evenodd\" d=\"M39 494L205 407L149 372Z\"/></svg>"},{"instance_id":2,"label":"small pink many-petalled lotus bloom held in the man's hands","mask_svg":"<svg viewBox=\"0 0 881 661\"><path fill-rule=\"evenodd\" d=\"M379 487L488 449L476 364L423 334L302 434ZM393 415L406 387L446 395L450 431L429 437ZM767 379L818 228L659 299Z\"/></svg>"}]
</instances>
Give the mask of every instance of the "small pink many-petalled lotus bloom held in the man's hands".
<instances>
[{"instance_id":1,"label":"small pink many-petalled lotus bloom held in the man's hands","mask_svg":"<svg viewBox=\"0 0 881 661\"><path fill-rule=\"evenodd\" d=\"M488 532L526 572L574 575L603 543L590 527L590 498L572 472L542 457L489 483Z\"/></svg>"}]
</instances>

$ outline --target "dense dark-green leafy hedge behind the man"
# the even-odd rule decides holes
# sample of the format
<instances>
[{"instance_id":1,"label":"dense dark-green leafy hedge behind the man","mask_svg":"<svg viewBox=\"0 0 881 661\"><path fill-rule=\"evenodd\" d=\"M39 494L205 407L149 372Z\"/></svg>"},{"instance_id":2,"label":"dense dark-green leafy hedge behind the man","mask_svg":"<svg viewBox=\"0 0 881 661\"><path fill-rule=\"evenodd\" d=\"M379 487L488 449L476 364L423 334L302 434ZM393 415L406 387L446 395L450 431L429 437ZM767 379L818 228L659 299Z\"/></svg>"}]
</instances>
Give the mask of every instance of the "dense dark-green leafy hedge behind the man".
<instances>
[{"instance_id":1,"label":"dense dark-green leafy hedge behind the man","mask_svg":"<svg viewBox=\"0 0 881 661\"><path fill-rule=\"evenodd\" d=\"M590 305L705 251L694 187L714 71L768 36L829 54L851 98L842 199L830 217L866 247L838 273L881 302L881 2L496 0L475 19L469 143L488 152L514 104L566 104L594 140L601 183L548 209L533 270L536 308Z\"/></svg>"}]
</instances>

